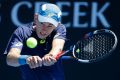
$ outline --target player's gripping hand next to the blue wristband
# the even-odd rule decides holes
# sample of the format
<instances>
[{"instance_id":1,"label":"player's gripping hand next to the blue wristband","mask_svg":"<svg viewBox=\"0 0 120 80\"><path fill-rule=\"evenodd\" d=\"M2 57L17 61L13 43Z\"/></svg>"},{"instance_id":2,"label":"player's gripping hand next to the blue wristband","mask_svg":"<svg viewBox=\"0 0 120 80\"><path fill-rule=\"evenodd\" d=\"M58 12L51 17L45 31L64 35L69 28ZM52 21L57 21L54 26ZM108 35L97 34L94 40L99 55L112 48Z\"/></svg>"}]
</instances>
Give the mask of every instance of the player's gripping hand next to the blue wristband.
<instances>
[{"instance_id":1,"label":"player's gripping hand next to the blue wristband","mask_svg":"<svg viewBox=\"0 0 120 80\"><path fill-rule=\"evenodd\" d=\"M26 59L30 68L37 68L42 66L42 59L39 56L30 56Z\"/></svg>"}]
</instances>

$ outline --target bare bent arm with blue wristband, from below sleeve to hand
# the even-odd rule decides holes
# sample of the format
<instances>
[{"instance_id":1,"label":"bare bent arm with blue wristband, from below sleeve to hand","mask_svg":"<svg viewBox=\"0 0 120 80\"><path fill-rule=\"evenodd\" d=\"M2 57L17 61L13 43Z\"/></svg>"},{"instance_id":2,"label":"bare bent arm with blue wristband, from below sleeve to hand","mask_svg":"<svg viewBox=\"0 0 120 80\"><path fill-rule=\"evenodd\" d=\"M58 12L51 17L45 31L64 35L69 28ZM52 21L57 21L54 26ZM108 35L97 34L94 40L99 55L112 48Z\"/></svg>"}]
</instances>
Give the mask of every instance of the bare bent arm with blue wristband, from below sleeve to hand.
<instances>
[{"instance_id":1,"label":"bare bent arm with blue wristband, from below sleeve to hand","mask_svg":"<svg viewBox=\"0 0 120 80\"><path fill-rule=\"evenodd\" d=\"M28 64L30 68L42 66L42 59L39 56L20 55L20 53L21 49L11 48L7 55L7 64L14 67Z\"/></svg>"}]
</instances>

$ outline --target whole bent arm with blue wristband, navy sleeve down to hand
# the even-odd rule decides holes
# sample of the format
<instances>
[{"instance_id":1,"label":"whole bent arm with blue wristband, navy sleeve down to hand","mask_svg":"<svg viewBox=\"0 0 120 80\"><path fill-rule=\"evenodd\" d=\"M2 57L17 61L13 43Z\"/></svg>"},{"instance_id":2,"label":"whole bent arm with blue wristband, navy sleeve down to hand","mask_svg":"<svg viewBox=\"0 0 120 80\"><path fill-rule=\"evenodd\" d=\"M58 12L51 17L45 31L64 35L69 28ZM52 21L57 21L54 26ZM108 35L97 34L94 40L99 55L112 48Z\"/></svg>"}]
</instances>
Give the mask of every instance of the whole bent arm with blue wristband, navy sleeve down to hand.
<instances>
[{"instance_id":1,"label":"whole bent arm with blue wristband, navy sleeve down to hand","mask_svg":"<svg viewBox=\"0 0 120 80\"><path fill-rule=\"evenodd\" d=\"M28 64L30 68L42 66L42 59L39 56L22 55L24 35L23 28L19 27L15 30L10 38L8 46L4 54L7 54L6 62L9 66L18 67Z\"/></svg>"}]
</instances>

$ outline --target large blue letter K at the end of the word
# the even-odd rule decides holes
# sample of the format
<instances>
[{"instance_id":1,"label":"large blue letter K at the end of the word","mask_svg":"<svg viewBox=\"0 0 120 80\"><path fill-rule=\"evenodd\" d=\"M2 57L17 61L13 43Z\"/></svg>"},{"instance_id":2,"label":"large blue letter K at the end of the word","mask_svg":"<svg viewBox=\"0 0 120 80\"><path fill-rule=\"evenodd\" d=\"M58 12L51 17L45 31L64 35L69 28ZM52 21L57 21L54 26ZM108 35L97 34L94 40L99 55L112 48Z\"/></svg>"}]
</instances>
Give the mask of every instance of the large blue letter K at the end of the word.
<instances>
[{"instance_id":1,"label":"large blue letter K at the end of the word","mask_svg":"<svg viewBox=\"0 0 120 80\"><path fill-rule=\"evenodd\" d=\"M108 8L109 5L110 5L109 2L105 3L98 11L98 4L96 2L92 3L92 14L91 14L91 27L92 28L97 27L97 19L101 21L104 27L106 28L110 27L108 21L105 18L105 15L103 15L103 12Z\"/></svg>"}]
</instances>

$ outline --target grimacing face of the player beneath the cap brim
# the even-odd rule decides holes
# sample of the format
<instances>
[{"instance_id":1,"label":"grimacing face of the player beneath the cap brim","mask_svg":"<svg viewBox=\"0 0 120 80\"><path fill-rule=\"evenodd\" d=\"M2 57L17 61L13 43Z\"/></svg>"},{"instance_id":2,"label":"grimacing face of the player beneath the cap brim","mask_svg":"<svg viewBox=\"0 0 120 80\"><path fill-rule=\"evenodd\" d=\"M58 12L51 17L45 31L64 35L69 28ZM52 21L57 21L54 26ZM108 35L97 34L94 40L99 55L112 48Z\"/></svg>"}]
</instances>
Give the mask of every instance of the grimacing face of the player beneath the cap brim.
<instances>
[{"instance_id":1,"label":"grimacing face of the player beneath the cap brim","mask_svg":"<svg viewBox=\"0 0 120 80\"><path fill-rule=\"evenodd\" d=\"M36 23L36 33L39 38L46 38L53 30L55 26L48 22L37 22Z\"/></svg>"}]
</instances>

